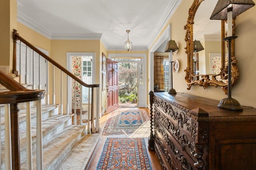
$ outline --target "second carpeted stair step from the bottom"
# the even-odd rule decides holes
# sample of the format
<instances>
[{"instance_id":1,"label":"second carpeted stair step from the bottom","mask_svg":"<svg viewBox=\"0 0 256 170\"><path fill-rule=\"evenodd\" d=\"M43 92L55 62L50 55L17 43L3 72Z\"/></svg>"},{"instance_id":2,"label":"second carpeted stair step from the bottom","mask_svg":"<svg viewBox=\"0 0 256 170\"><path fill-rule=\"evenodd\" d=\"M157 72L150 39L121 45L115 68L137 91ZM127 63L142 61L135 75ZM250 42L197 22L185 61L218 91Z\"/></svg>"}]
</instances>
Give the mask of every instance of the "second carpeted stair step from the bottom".
<instances>
[{"instance_id":1,"label":"second carpeted stair step from the bottom","mask_svg":"<svg viewBox=\"0 0 256 170\"><path fill-rule=\"evenodd\" d=\"M82 135L84 135L83 125L70 125L46 143L43 146L44 170L55 170L56 166L66 157ZM36 152L33 152L32 161L33 169L36 169ZM21 164L21 169L26 169L26 161Z\"/></svg>"}]
</instances>

